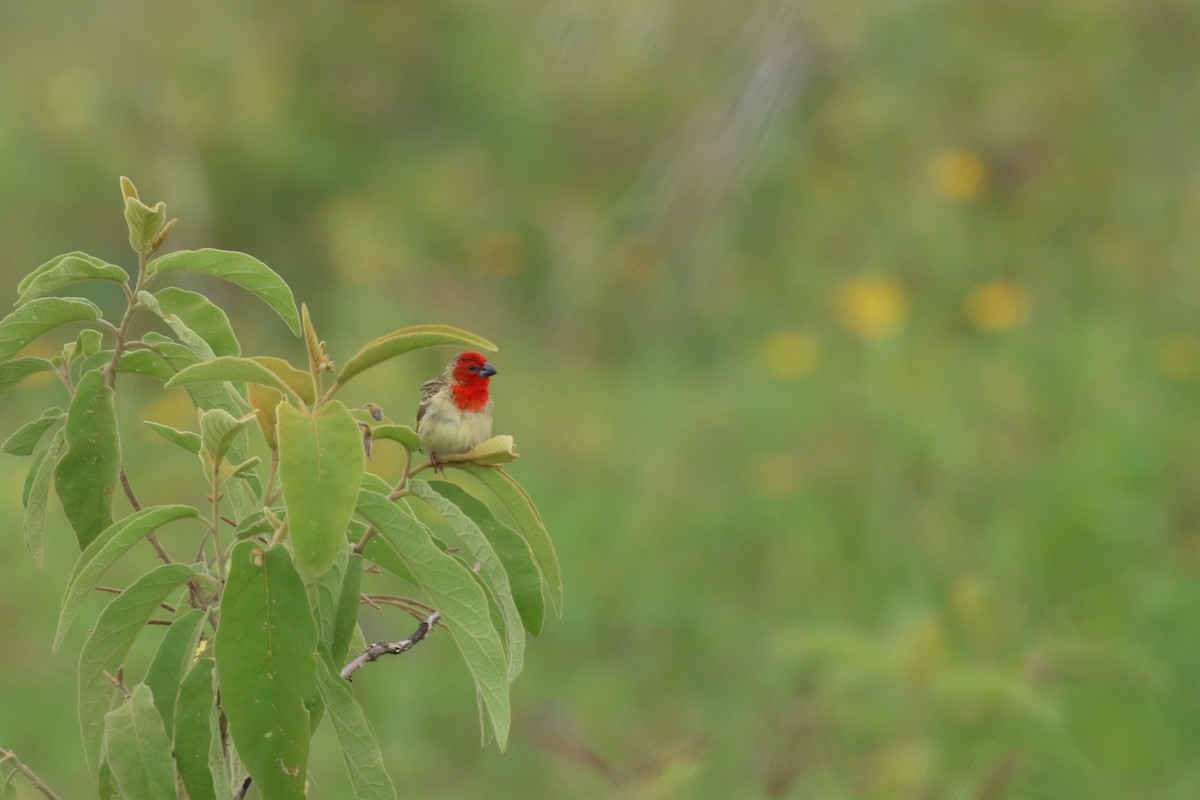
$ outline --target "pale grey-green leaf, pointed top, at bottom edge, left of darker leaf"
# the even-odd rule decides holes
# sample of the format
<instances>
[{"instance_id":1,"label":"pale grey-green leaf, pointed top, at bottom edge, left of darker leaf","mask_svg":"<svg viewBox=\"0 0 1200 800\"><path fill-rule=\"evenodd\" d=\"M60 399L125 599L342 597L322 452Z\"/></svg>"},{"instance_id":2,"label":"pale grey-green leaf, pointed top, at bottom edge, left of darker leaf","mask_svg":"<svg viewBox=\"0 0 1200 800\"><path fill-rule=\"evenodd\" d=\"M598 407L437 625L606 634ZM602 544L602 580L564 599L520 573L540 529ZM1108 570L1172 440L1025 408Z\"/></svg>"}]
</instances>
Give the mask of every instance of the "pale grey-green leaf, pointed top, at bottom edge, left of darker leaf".
<instances>
[{"instance_id":1,"label":"pale grey-green leaf, pointed top, at bottom edge, left of darker leaf","mask_svg":"<svg viewBox=\"0 0 1200 800\"><path fill-rule=\"evenodd\" d=\"M145 684L104 716L108 765L127 798L174 798L175 765L162 717Z\"/></svg>"}]
</instances>

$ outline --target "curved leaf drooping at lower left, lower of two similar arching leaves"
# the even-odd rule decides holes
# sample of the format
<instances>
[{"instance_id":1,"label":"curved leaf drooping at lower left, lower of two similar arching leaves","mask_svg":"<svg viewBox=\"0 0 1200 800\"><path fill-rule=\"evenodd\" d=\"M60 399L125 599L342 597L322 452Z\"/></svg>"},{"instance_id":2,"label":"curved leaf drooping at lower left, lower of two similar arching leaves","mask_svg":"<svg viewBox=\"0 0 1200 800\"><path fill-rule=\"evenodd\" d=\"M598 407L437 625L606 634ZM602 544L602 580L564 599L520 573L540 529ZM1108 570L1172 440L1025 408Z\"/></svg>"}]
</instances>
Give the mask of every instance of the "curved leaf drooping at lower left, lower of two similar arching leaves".
<instances>
[{"instance_id":1,"label":"curved leaf drooping at lower left, lower of two similar arching leaves","mask_svg":"<svg viewBox=\"0 0 1200 800\"><path fill-rule=\"evenodd\" d=\"M104 673L116 674L158 604L194 575L185 564L164 564L145 573L104 607L84 643L79 654L79 728L92 775L100 769L102 723L115 691ZM158 724L162 726L161 717Z\"/></svg>"}]
</instances>

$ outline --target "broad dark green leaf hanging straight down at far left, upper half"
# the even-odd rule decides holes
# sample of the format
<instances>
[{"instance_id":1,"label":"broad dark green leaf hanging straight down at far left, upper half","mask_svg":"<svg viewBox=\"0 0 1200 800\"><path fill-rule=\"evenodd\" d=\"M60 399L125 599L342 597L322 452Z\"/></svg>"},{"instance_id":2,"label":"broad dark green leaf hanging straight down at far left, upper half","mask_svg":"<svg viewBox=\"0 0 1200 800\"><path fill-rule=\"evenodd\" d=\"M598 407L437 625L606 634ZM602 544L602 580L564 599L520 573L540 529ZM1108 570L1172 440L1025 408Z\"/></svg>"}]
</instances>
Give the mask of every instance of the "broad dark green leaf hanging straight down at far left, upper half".
<instances>
[{"instance_id":1,"label":"broad dark green leaf hanging straight down at far left, upper half","mask_svg":"<svg viewBox=\"0 0 1200 800\"><path fill-rule=\"evenodd\" d=\"M89 372L76 386L64 429L67 452L54 470L54 491L83 549L113 524L121 470L113 390L101 371Z\"/></svg>"}]
</instances>

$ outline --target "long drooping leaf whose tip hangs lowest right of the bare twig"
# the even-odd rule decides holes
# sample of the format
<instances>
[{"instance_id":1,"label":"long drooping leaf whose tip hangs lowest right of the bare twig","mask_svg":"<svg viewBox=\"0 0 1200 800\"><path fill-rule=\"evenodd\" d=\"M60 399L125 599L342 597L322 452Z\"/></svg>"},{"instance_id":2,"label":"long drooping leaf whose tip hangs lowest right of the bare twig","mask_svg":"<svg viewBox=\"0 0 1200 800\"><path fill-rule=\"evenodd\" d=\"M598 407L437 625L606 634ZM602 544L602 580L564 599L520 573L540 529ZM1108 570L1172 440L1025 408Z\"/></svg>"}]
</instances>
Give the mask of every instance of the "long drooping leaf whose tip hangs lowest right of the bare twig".
<instances>
[{"instance_id":1,"label":"long drooping leaf whose tip hangs lowest right of the bare twig","mask_svg":"<svg viewBox=\"0 0 1200 800\"><path fill-rule=\"evenodd\" d=\"M358 512L376 527L412 570L430 602L442 612L475 686L484 697L487 718L500 751L508 745L511 709L504 643L488 612L487 594L475 576L438 549L415 519L374 492L360 492Z\"/></svg>"}]
</instances>

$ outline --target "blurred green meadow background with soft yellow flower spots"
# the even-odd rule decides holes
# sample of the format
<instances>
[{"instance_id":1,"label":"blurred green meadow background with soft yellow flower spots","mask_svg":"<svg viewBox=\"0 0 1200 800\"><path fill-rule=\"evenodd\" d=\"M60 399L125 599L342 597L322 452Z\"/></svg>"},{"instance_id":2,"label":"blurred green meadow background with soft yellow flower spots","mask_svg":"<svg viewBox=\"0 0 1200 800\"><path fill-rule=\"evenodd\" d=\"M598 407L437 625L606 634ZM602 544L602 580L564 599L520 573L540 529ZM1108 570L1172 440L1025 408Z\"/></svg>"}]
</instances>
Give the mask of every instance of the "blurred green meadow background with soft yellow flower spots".
<instances>
[{"instance_id":1,"label":"blurred green meadow background with soft yellow flower spots","mask_svg":"<svg viewBox=\"0 0 1200 800\"><path fill-rule=\"evenodd\" d=\"M431 321L500 344L566 614L505 756L448 638L360 673L402 796L1200 795L1200 5L5 11L12 297L60 252L128 264L124 174L174 247L283 273L335 357ZM404 420L449 355L347 399ZM188 411L152 389L121 408L162 503L192 468L137 419ZM7 435L64 397L2 402ZM44 572L25 553L25 468L0 459L0 745L91 796L82 630L49 649L77 553L58 512ZM312 774L349 796L324 729Z\"/></svg>"}]
</instances>

